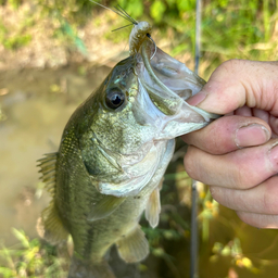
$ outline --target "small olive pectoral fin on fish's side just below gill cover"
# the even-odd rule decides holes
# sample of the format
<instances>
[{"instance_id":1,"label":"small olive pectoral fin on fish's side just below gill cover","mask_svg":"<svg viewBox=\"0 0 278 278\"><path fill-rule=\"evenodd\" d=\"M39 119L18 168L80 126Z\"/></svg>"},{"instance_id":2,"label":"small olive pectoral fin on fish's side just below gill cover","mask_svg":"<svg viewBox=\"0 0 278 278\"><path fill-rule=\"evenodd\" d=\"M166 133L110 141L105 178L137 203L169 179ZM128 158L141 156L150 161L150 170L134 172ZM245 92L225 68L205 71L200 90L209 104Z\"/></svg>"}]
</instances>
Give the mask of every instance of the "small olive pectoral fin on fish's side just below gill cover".
<instances>
[{"instance_id":1,"label":"small olive pectoral fin on fish's side just below gill cover","mask_svg":"<svg viewBox=\"0 0 278 278\"><path fill-rule=\"evenodd\" d=\"M99 220L112 214L126 198L118 198L114 195L104 195L89 212L87 219L89 222Z\"/></svg>"}]
</instances>

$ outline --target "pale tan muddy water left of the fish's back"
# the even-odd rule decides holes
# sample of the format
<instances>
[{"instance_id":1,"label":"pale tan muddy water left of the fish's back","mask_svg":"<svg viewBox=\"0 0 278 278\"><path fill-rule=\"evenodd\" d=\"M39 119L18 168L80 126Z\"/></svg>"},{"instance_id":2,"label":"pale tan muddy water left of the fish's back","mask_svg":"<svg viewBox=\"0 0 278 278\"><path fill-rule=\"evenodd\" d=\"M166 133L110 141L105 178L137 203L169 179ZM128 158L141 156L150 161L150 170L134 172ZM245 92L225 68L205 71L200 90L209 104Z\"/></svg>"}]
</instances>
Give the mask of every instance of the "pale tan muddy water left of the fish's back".
<instances>
[{"instance_id":1,"label":"pale tan muddy water left of the fish's back","mask_svg":"<svg viewBox=\"0 0 278 278\"><path fill-rule=\"evenodd\" d=\"M80 75L80 72L83 75ZM14 242L11 227L36 237L36 219L48 195L39 190L36 160L58 150L76 109L109 67L23 70L0 73L0 239Z\"/></svg>"}]
</instances>

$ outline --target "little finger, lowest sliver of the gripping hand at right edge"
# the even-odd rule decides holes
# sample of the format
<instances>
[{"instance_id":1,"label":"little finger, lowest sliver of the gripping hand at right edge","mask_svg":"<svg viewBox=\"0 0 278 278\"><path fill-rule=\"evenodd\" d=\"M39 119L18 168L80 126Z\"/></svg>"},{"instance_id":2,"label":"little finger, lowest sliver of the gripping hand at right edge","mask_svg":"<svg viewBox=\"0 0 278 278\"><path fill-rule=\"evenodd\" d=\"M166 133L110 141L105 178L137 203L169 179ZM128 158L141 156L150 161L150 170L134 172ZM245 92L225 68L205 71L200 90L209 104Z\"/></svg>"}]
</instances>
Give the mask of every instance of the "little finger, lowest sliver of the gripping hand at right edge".
<instances>
[{"instance_id":1,"label":"little finger, lowest sliver of the gripping hand at right edge","mask_svg":"<svg viewBox=\"0 0 278 278\"><path fill-rule=\"evenodd\" d=\"M237 212L239 218L256 228L262 229L277 229L278 228L278 215L266 215L256 213Z\"/></svg>"}]
</instances>

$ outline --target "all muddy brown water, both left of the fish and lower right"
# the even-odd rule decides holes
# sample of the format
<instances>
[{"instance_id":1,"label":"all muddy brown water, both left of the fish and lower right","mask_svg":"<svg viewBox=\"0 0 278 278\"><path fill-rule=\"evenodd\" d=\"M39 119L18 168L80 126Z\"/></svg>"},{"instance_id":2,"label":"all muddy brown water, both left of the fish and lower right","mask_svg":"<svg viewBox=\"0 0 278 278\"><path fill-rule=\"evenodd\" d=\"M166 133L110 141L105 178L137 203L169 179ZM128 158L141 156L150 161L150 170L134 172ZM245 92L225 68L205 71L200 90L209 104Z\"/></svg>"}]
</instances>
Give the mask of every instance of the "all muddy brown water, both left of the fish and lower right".
<instances>
[{"instance_id":1,"label":"all muddy brown water, both left of the fish and lower right","mask_svg":"<svg viewBox=\"0 0 278 278\"><path fill-rule=\"evenodd\" d=\"M7 118L0 122L0 243L10 247L17 242L11 235L11 227L24 229L30 238L37 237L36 220L47 206L49 197L41 190L36 160L43 153L58 150L68 117L109 72L109 67L73 65L58 70L26 68L0 73L0 116ZM182 160L179 163L182 167ZM177 167L172 164L170 168L173 173ZM166 207L169 197L175 195L176 187L169 181L165 184L170 188L162 195L167 199ZM180 205L178 199L173 203L175 207L172 205L172 208L177 211L182 222L188 223L188 207ZM165 227L162 220L160 228L180 229L173 219ZM243 255L252 260L260 268L258 273L252 273L242 265L236 266L229 255L211 261L215 242L225 245L235 238L240 239ZM112 251L111 265L122 278L189 277L188 233L180 240L164 240L163 248L170 260L150 255L143 263L148 271L140 275L136 266L121 262L115 251ZM211 222L208 240L200 241L200 277L276 278L277 274L278 232L252 228L240 222L235 212L220 207L220 214Z\"/></svg>"}]
</instances>

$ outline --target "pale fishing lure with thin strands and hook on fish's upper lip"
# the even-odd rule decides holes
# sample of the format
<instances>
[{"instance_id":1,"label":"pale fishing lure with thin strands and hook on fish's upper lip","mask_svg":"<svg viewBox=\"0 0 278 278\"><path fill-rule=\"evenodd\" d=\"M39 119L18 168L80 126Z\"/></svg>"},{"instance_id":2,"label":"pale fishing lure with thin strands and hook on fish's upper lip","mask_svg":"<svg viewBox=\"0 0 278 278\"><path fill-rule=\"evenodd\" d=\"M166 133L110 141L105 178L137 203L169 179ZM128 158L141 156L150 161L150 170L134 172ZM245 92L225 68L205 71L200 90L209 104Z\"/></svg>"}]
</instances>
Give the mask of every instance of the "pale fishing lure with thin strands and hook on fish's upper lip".
<instances>
[{"instance_id":1,"label":"pale fishing lure with thin strands and hook on fish's upper lip","mask_svg":"<svg viewBox=\"0 0 278 278\"><path fill-rule=\"evenodd\" d=\"M136 21L135 18L132 18L121 5L116 5L114 9L110 9L105 5L102 5L100 3L97 3L92 0L90 0L90 2L92 3L96 3L106 10L110 10L114 13L116 13L117 15L124 17L125 20L129 21L131 24L128 24L128 25L125 25L123 27L119 27L117 29L114 29L112 31L115 31L115 30L119 30L119 29L123 29L125 27L128 27L130 25L134 25L134 28L131 29L130 31L130 35L129 35L129 54L130 55L134 55L136 53L138 53L142 42L146 40L146 39L151 39L152 42L154 43L153 39L151 38L151 31L152 31L152 26L150 23L148 22L138 22ZM155 46L155 43L154 43ZM155 46L155 49L156 49L156 46ZM155 54L155 52L154 52ZM153 54L153 55L154 55ZM152 56L153 56L152 55Z\"/></svg>"}]
</instances>

